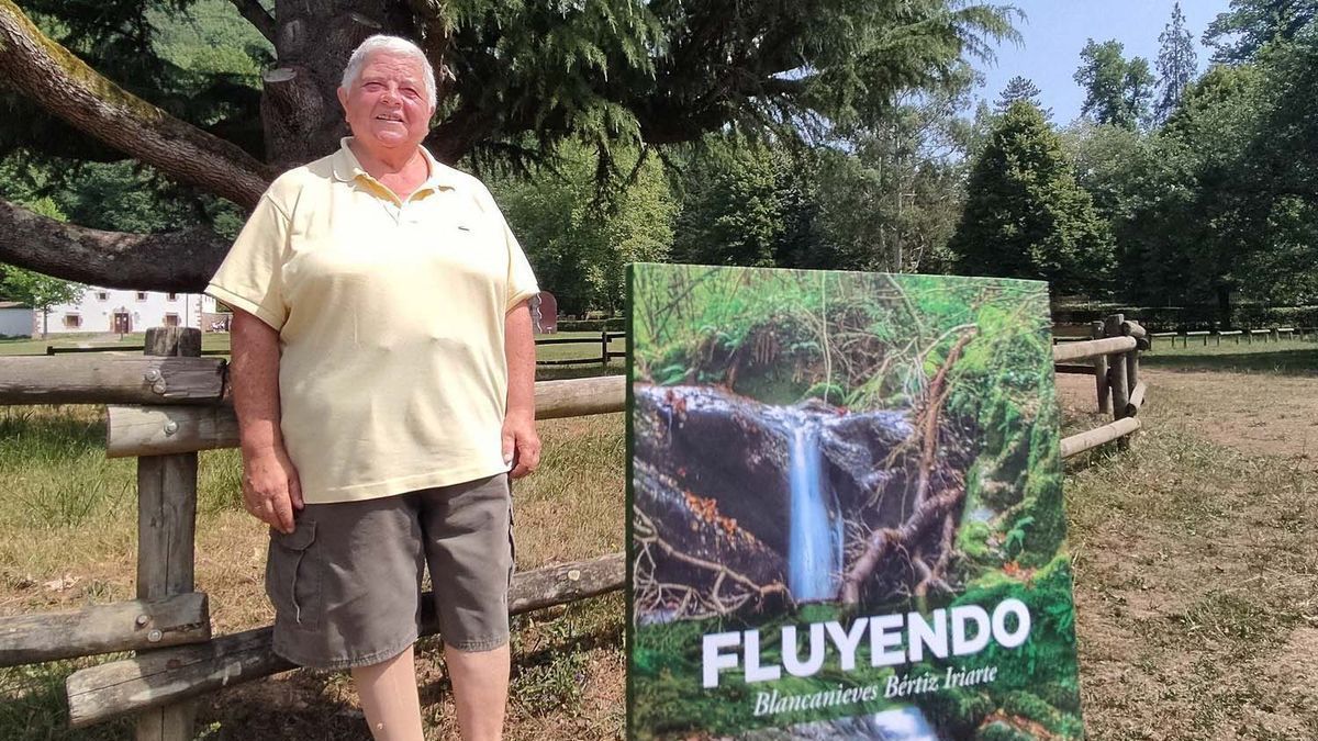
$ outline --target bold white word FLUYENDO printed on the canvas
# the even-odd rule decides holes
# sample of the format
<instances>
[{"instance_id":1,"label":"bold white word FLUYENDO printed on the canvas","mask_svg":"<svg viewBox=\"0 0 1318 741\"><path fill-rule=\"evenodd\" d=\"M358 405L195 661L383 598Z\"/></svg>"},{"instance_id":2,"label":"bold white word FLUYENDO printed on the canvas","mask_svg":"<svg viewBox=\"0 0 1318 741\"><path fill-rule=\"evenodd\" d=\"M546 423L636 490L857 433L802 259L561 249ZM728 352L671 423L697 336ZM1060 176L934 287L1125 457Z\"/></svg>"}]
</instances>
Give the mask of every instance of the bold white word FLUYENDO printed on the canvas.
<instances>
[{"instance_id":1,"label":"bold white word FLUYENDO printed on the canvas","mask_svg":"<svg viewBox=\"0 0 1318 741\"><path fill-rule=\"evenodd\" d=\"M1015 617L1015 625L1008 625ZM803 658L797 642L799 629L809 633L809 651ZM1025 603L1008 599L998 603L990 614L979 605L936 609L928 618L917 612L861 617L844 628L838 621L812 622L782 628L782 665L766 663L760 657L758 629L710 633L702 637L702 684L718 687L724 671L743 668L746 683L772 682L783 676L813 676L824 667L828 654L834 654L842 671L854 671L861 641L869 638L870 666L915 663L925 657L948 658L977 654L992 641L1015 649L1029 638L1029 609ZM832 650L829 650L832 647Z\"/></svg>"}]
</instances>

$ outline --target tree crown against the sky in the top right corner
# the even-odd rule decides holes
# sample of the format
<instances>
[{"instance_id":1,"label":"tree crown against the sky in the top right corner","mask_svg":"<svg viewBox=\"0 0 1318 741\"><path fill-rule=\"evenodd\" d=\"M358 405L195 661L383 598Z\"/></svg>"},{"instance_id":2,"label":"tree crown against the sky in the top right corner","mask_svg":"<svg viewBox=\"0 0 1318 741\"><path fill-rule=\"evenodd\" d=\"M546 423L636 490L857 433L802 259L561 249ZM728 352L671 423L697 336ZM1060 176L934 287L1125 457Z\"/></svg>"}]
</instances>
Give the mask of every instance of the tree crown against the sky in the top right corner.
<instances>
[{"instance_id":1,"label":"tree crown against the sky in the top right corner","mask_svg":"<svg viewBox=\"0 0 1318 741\"><path fill-rule=\"evenodd\" d=\"M1203 32L1214 62L1248 62L1273 41L1300 36L1318 18L1318 0L1231 0Z\"/></svg>"}]
</instances>

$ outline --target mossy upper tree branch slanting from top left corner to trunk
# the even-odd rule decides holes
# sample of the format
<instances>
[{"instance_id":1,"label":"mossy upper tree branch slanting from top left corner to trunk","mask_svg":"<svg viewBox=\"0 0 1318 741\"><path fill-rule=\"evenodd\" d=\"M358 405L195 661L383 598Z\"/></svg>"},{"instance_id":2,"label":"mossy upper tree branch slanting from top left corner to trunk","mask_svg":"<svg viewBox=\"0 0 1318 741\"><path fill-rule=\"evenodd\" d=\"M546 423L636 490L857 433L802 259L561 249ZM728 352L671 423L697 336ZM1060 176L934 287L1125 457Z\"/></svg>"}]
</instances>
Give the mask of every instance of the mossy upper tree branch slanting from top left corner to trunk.
<instances>
[{"instance_id":1,"label":"mossy upper tree branch slanting from top left corner to trunk","mask_svg":"<svg viewBox=\"0 0 1318 741\"><path fill-rule=\"evenodd\" d=\"M274 174L240 148L127 92L0 0L0 76L55 116L170 178L252 207Z\"/></svg>"}]
</instances>

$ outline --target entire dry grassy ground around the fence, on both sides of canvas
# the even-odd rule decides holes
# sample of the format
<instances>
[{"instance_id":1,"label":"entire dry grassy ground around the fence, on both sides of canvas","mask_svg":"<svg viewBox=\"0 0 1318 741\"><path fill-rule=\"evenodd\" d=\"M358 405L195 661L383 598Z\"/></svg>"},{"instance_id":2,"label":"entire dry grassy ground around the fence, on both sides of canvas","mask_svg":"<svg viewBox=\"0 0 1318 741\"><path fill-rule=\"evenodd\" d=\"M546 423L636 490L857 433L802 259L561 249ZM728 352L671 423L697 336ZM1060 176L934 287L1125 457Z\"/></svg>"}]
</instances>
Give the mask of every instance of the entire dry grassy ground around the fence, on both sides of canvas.
<instances>
[{"instance_id":1,"label":"entire dry grassy ground around the fence, on both sides of canvas","mask_svg":"<svg viewBox=\"0 0 1318 741\"><path fill-rule=\"evenodd\" d=\"M1301 355L1269 365L1256 347L1202 369L1194 352L1151 356L1128 452L1068 464L1086 725L1112 741L1318 738L1318 353L1276 348ZM1060 382L1068 431L1101 423L1093 380ZM621 550L622 417L540 431L542 468L514 494L519 567ZM132 597L134 464L107 460L103 438L91 407L0 407L0 614ZM200 460L196 583L215 632L265 624L265 533L237 504L236 454ZM518 618L507 737L619 738L622 629L618 595ZM419 655L428 737L455 738L438 646ZM66 726L63 678L88 661L0 670L0 741L130 738L128 723ZM366 738L343 674L231 688L198 717L208 740Z\"/></svg>"}]
</instances>

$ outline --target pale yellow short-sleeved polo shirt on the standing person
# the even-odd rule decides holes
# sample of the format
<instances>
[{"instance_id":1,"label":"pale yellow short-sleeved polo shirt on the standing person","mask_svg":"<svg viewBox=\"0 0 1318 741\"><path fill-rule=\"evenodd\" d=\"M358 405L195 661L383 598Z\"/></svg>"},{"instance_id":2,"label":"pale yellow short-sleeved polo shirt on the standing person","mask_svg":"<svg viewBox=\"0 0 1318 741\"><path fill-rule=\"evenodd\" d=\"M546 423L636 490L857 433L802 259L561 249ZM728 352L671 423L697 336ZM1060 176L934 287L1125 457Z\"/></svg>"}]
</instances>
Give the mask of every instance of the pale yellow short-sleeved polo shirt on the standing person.
<instances>
[{"instance_id":1,"label":"pale yellow short-sleeved polo shirt on the standing person","mask_svg":"<svg viewBox=\"0 0 1318 741\"><path fill-rule=\"evenodd\" d=\"M281 175L206 293L279 332L308 504L507 471L503 316L538 293L489 191L436 162L405 202L339 152Z\"/></svg>"}]
</instances>

